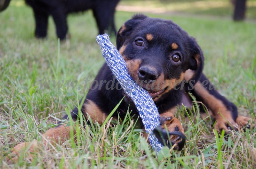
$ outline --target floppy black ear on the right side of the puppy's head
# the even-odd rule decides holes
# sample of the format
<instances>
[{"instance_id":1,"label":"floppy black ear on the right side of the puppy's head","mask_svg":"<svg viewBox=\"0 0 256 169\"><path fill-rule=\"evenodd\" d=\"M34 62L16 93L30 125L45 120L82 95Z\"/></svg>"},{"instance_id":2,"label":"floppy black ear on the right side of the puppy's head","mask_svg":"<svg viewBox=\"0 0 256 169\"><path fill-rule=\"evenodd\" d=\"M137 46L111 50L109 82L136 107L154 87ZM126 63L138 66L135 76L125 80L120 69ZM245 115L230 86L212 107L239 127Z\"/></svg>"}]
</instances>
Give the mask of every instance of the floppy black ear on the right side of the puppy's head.
<instances>
[{"instance_id":1,"label":"floppy black ear on the right side of the puppy's head","mask_svg":"<svg viewBox=\"0 0 256 169\"><path fill-rule=\"evenodd\" d=\"M190 61L188 69L194 70L194 74L189 79L189 85L194 86L199 80L204 69L204 55L202 49L197 44L194 38L191 38L192 50L190 53ZM191 88L191 87L190 87ZM189 90L189 86L188 86Z\"/></svg>"}]
</instances>

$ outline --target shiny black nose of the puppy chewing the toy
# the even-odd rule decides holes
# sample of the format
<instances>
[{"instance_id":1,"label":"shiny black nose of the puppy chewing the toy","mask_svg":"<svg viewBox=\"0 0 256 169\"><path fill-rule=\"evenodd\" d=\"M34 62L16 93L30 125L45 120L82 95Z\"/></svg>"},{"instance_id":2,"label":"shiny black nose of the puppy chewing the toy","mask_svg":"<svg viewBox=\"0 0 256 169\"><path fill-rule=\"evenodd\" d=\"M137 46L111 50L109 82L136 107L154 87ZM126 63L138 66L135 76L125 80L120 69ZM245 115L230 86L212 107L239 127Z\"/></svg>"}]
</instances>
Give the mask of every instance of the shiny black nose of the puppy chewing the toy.
<instances>
[{"instance_id":1,"label":"shiny black nose of the puppy chewing the toy","mask_svg":"<svg viewBox=\"0 0 256 169\"><path fill-rule=\"evenodd\" d=\"M147 80L148 82L152 82L156 80L158 77L157 71L153 67L149 66L142 66L139 69L139 79L140 80Z\"/></svg>"}]
</instances>

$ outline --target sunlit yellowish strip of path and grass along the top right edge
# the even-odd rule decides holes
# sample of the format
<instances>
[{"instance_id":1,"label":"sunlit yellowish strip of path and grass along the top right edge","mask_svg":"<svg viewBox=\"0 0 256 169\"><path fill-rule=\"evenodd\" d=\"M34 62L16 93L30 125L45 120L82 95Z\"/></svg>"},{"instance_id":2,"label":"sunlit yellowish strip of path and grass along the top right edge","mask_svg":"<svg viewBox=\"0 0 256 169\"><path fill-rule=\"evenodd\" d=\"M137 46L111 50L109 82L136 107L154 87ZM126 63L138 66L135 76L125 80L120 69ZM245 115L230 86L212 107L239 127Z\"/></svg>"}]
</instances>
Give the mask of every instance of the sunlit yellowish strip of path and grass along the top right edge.
<instances>
[{"instance_id":1,"label":"sunlit yellowish strip of path and grass along the top right edge","mask_svg":"<svg viewBox=\"0 0 256 169\"><path fill-rule=\"evenodd\" d=\"M123 0L121 5L139 7L138 12L172 13L173 15L217 16L232 18L234 6L231 0ZM120 8L121 9L121 8ZM122 8L123 9L123 8ZM245 16L256 19L256 1L247 0Z\"/></svg>"}]
</instances>

